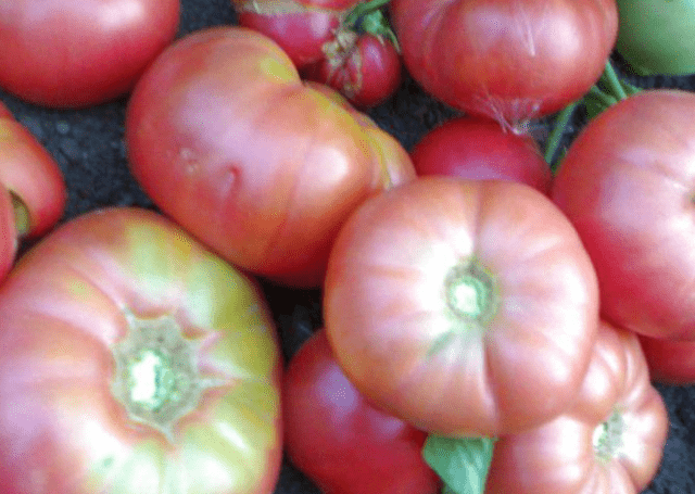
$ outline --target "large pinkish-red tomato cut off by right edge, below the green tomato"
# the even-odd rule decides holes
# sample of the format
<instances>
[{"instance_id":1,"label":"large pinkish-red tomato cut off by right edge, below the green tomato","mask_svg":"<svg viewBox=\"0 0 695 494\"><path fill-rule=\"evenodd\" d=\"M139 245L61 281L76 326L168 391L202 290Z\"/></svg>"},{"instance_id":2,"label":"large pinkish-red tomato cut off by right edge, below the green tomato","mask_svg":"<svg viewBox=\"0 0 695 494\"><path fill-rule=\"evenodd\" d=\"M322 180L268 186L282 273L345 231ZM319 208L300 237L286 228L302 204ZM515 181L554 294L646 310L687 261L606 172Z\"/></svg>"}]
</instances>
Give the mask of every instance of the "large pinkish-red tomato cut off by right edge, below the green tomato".
<instances>
[{"instance_id":1,"label":"large pinkish-red tomato cut off by right edge, below the green tomato","mask_svg":"<svg viewBox=\"0 0 695 494\"><path fill-rule=\"evenodd\" d=\"M695 94L645 90L592 119L552 197L577 228L603 316L653 338L695 339Z\"/></svg>"}]
</instances>

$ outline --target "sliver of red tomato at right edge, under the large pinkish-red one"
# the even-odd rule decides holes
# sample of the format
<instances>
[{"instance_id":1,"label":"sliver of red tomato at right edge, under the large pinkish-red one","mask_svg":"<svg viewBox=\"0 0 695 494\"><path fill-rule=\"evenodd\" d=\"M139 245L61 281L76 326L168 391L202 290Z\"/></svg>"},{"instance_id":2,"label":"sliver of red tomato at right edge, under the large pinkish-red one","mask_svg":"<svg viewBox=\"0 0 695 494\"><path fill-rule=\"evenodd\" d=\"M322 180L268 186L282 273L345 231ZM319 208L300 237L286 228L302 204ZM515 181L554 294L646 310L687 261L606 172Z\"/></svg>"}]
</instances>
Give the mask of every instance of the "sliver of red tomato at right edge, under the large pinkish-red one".
<instances>
[{"instance_id":1,"label":"sliver of red tomato at right edge, under the large pinkish-red one","mask_svg":"<svg viewBox=\"0 0 695 494\"><path fill-rule=\"evenodd\" d=\"M695 384L695 341L640 335L652 380L672 385Z\"/></svg>"}]
</instances>

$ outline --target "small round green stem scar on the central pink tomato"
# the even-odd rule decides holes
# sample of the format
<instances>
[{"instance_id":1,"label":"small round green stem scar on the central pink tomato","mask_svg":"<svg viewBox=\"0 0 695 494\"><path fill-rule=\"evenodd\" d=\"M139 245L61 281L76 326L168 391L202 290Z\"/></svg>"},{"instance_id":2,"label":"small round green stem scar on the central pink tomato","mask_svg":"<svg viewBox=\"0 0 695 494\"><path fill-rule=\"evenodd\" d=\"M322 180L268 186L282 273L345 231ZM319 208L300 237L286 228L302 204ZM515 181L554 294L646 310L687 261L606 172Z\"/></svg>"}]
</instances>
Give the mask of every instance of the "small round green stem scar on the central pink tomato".
<instances>
[{"instance_id":1,"label":"small round green stem scar on the central pink tomato","mask_svg":"<svg viewBox=\"0 0 695 494\"><path fill-rule=\"evenodd\" d=\"M452 267L444 280L446 305L458 318L484 326L497 309L494 277L476 259Z\"/></svg>"}]
</instances>

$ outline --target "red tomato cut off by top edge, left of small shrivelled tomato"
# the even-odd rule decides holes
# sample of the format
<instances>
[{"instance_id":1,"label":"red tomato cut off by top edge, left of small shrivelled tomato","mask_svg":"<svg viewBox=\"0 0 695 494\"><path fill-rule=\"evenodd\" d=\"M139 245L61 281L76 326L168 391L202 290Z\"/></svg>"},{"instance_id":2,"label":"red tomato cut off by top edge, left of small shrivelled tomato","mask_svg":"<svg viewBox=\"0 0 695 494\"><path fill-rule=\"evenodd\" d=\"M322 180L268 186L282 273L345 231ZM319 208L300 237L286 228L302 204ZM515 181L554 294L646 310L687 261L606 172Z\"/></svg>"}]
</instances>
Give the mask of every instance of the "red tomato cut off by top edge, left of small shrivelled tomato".
<instances>
[{"instance_id":1,"label":"red tomato cut off by top edge, left of small shrivelled tomato","mask_svg":"<svg viewBox=\"0 0 695 494\"><path fill-rule=\"evenodd\" d=\"M323 60L324 43L361 0L231 0L239 25L277 42L298 67Z\"/></svg>"}]
</instances>

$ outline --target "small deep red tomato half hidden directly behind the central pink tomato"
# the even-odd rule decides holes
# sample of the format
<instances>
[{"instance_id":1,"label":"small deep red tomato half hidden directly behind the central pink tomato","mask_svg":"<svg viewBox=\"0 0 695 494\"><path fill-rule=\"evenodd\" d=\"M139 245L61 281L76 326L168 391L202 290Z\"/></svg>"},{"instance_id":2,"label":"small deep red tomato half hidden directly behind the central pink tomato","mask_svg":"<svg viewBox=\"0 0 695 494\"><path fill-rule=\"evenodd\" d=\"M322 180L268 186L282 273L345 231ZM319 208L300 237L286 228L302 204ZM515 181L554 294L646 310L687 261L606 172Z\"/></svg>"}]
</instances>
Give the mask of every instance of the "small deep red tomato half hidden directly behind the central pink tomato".
<instances>
[{"instance_id":1,"label":"small deep red tomato half hidden directly behind the central pink tomato","mask_svg":"<svg viewBox=\"0 0 695 494\"><path fill-rule=\"evenodd\" d=\"M494 178L549 194L553 176L538 143L496 122L457 117L430 130L410 151L418 175Z\"/></svg>"}]
</instances>

